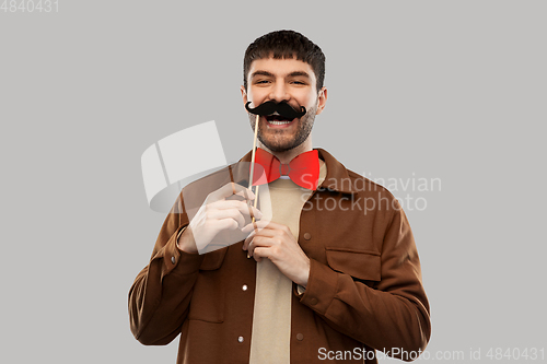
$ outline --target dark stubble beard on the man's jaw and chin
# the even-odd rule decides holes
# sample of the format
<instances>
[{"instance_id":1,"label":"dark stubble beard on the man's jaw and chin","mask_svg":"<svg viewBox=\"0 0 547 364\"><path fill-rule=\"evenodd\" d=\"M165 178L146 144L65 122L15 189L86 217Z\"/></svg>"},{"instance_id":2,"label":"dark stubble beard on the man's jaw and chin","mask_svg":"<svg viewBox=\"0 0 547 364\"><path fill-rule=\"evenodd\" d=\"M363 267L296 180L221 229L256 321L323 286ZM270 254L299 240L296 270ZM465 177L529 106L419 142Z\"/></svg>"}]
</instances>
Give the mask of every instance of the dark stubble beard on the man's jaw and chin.
<instances>
[{"instance_id":1,"label":"dark stubble beard on the man's jaw and chin","mask_svg":"<svg viewBox=\"0 0 547 364\"><path fill-rule=\"evenodd\" d=\"M301 145L310 136L315 121L315 113L317 111L317 103L311 107L307 113L296 120L298 129L293 138L283 138L287 130L270 129L269 138L265 138L261 128L258 127L258 140L272 152L287 152ZM256 115L247 113L251 121L251 128L255 131Z\"/></svg>"}]
</instances>

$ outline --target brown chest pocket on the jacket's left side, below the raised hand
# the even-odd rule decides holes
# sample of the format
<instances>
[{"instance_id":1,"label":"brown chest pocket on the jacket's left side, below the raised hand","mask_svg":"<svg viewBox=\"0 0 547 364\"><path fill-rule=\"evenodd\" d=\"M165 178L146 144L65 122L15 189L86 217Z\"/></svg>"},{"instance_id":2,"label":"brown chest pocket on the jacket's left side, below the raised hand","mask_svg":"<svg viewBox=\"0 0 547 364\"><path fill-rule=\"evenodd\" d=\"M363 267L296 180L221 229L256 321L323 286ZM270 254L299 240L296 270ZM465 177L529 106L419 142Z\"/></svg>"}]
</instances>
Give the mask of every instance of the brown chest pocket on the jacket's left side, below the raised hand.
<instances>
[{"instance_id":1,"label":"brown chest pocket on the jacket's left side, below the raised hand","mask_svg":"<svg viewBox=\"0 0 547 364\"><path fill-rule=\"evenodd\" d=\"M228 248L208 253L199 267L198 278L191 294L189 320L220 324L224 321L225 287L222 270Z\"/></svg>"}]
</instances>

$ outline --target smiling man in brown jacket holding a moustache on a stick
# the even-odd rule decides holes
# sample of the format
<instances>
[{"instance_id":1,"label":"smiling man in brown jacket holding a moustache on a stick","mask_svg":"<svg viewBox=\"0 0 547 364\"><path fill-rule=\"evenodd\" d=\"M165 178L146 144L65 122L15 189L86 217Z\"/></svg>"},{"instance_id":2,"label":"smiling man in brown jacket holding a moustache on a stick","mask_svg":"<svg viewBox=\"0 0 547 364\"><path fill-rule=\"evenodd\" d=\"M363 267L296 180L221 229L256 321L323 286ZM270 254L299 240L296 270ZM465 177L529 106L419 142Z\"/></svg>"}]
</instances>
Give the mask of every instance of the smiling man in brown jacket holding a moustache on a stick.
<instances>
[{"instance_id":1,"label":"smiling man in brown jacket holding a moustache on a stick","mask_svg":"<svg viewBox=\"0 0 547 364\"><path fill-rule=\"evenodd\" d=\"M181 334L177 363L376 363L375 350L414 360L426 348L429 304L405 213L385 188L313 149L324 74L323 51L299 33L249 45L241 93L253 129L259 115L257 184L268 184L271 219L246 203L255 195L233 183L236 166L193 219L195 193L183 191L129 293L140 342ZM268 104L281 111L258 111ZM210 180L194 188L209 191ZM198 254L226 231L246 237Z\"/></svg>"}]
</instances>

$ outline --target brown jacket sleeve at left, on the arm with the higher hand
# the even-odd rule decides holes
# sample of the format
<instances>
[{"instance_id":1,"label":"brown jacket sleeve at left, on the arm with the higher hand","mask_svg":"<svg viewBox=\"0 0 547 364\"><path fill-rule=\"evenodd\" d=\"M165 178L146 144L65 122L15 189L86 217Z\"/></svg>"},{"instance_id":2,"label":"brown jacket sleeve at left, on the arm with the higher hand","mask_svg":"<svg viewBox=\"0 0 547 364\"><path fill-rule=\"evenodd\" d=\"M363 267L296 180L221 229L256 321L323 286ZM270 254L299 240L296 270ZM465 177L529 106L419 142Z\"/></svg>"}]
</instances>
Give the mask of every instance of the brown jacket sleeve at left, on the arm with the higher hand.
<instances>
[{"instance_id":1,"label":"brown jacket sleeve at left, on the arm with the higher hand","mask_svg":"<svg viewBox=\"0 0 547 364\"><path fill-rule=\"evenodd\" d=\"M143 344L167 344L181 332L203 259L176 247L178 233L188 225L181 199L165 219L150 263L129 291L131 332Z\"/></svg>"}]
</instances>

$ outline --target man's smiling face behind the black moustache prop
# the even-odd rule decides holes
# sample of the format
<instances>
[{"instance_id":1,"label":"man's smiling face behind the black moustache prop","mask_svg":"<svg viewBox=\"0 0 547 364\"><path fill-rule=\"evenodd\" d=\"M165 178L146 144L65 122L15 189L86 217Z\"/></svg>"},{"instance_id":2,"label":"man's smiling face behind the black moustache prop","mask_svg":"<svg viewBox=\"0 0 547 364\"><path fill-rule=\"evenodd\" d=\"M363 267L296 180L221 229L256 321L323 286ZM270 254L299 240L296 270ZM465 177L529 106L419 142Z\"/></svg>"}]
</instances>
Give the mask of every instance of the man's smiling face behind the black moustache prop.
<instances>
[{"instance_id":1,"label":"man's smiling face behind the black moustache prop","mask_svg":"<svg viewBox=\"0 0 547 364\"><path fill-rule=\"evenodd\" d=\"M247 87L242 86L243 103L256 107L267 101L288 102L294 109L304 106L307 113L292 120L260 116L258 140L272 152L284 152L304 143L312 131L315 115L325 107L326 89L318 93L315 73L301 60L264 58L253 61L247 74ZM248 114L255 128L256 115Z\"/></svg>"}]
</instances>

